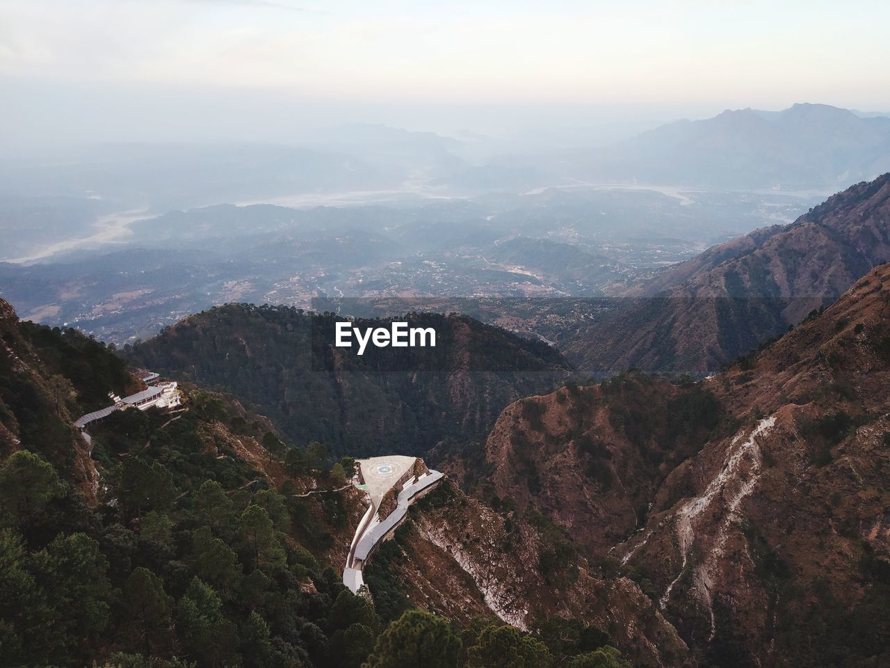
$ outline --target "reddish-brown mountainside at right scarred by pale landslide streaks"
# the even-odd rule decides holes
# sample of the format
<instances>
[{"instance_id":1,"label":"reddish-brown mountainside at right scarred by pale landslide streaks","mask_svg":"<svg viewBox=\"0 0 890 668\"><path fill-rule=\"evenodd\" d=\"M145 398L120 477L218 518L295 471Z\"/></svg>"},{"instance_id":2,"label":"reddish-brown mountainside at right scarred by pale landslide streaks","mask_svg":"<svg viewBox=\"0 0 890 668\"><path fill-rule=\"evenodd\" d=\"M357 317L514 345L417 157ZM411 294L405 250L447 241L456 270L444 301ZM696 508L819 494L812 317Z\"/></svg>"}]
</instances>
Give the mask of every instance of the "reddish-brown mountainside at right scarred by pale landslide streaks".
<instances>
[{"instance_id":1,"label":"reddish-brown mountainside at right scarred by pale landslide streaks","mask_svg":"<svg viewBox=\"0 0 890 668\"><path fill-rule=\"evenodd\" d=\"M583 411L566 390L510 406L476 465L498 494L537 505L595 553L608 550L601 534L618 536L614 565L702 664L878 665L890 659L888 350L890 265L880 265L773 346L690 386L711 398L667 410L682 447L663 415L683 388L631 375L579 389ZM628 397L634 411L620 410ZM716 417L694 407L712 401ZM628 466L639 457L619 424L667 450L657 474ZM522 443L537 489L517 466ZM613 475L590 475L604 468Z\"/></svg>"}]
</instances>

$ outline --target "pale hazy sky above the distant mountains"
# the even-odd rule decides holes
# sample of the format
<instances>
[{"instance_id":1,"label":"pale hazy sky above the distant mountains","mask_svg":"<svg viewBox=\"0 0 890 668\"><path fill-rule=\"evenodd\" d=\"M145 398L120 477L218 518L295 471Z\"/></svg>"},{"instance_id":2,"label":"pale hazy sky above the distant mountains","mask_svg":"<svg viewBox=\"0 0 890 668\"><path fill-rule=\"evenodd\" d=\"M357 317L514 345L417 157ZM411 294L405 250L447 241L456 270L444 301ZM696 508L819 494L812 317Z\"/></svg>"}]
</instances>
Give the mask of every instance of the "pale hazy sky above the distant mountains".
<instances>
[{"instance_id":1,"label":"pale hazy sky above the distant mountains","mask_svg":"<svg viewBox=\"0 0 890 668\"><path fill-rule=\"evenodd\" d=\"M890 110L888 25L886 0L0 0L0 122L19 141L271 139Z\"/></svg>"}]
</instances>

